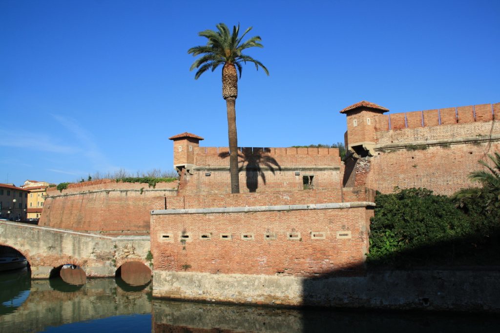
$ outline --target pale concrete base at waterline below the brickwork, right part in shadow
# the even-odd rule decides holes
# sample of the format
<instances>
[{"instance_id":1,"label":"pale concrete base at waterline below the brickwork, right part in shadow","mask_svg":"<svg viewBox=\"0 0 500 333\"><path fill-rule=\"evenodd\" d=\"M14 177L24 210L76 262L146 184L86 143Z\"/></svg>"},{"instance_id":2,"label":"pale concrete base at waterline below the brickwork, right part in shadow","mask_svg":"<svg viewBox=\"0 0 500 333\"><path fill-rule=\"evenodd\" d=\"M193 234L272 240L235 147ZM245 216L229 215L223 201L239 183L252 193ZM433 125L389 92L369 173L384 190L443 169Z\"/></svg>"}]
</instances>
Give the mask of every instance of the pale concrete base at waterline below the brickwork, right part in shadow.
<instances>
[{"instance_id":1,"label":"pale concrete base at waterline below the brickwork, right part in shadow","mask_svg":"<svg viewBox=\"0 0 500 333\"><path fill-rule=\"evenodd\" d=\"M500 313L499 271L381 271L362 277L154 271L153 297L239 304Z\"/></svg>"}]
</instances>

